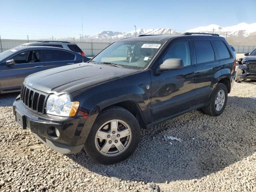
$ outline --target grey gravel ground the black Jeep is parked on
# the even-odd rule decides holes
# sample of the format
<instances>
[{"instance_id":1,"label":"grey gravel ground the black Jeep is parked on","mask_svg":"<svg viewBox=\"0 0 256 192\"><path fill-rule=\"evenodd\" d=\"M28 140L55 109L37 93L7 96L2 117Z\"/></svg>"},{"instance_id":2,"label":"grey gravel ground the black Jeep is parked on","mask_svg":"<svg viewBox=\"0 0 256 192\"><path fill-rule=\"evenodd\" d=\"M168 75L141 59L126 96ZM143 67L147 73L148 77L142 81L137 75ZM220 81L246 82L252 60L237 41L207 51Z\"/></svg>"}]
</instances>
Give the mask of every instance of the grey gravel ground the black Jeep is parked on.
<instances>
[{"instance_id":1,"label":"grey gravel ground the black Jeep is parked on","mask_svg":"<svg viewBox=\"0 0 256 192\"><path fill-rule=\"evenodd\" d=\"M256 81L235 83L224 113L199 111L143 130L128 160L95 164L84 151L64 155L21 130L16 94L0 96L0 191L256 191ZM177 136L183 141L166 141Z\"/></svg>"}]
</instances>

